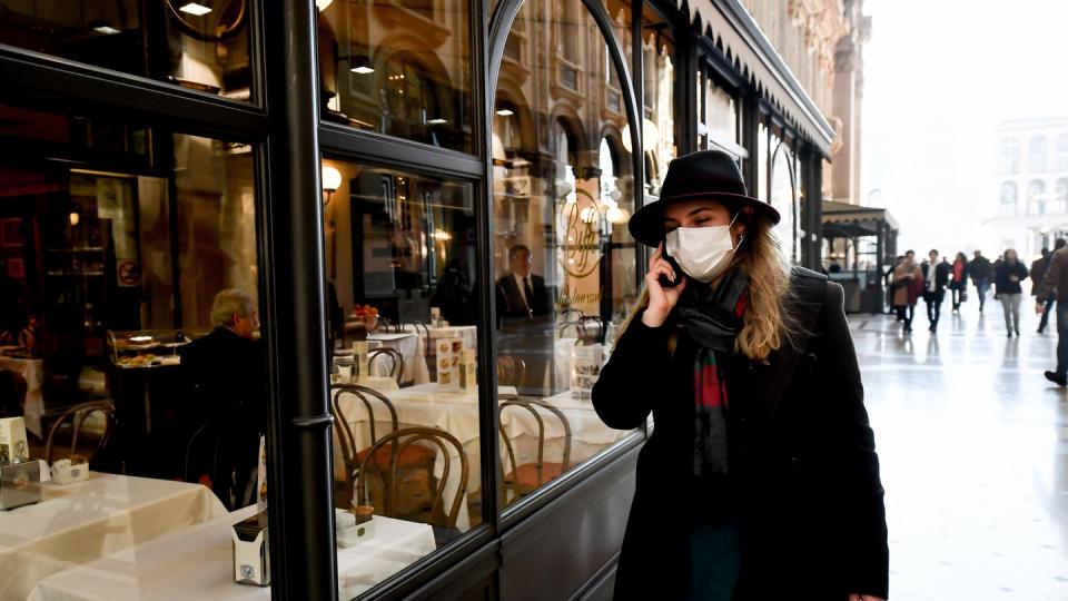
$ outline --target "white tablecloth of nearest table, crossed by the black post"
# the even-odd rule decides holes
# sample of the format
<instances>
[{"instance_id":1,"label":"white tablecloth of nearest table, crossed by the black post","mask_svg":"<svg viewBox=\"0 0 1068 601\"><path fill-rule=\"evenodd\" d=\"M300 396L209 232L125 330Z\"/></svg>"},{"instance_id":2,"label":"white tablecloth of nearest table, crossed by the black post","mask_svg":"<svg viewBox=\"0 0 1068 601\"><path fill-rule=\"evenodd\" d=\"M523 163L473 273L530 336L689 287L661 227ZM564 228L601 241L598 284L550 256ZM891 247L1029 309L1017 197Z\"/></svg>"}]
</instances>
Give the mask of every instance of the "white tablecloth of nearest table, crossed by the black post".
<instances>
[{"instance_id":1,"label":"white tablecloth of nearest table, crossed by the black post","mask_svg":"<svg viewBox=\"0 0 1068 601\"><path fill-rule=\"evenodd\" d=\"M42 580L30 601L264 600L270 589L234 582L231 525L245 508ZM340 598L353 599L434 551L426 524L375 518L370 540L337 552Z\"/></svg>"}]
</instances>

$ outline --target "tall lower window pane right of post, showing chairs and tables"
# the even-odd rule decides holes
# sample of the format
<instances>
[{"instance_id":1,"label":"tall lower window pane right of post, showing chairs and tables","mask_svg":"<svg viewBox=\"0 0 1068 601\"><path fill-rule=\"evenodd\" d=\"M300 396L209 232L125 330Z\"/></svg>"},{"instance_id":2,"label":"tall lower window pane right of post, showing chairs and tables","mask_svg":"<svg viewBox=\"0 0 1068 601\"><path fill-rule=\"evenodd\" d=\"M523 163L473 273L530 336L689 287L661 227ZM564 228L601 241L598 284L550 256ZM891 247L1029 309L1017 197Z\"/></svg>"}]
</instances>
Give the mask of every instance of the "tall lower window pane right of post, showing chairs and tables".
<instances>
[{"instance_id":1,"label":"tall lower window pane right of post, showing chairs and tables","mask_svg":"<svg viewBox=\"0 0 1068 601\"><path fill-rule=\"evenodd\" d=\"M359 548L339 549L350 599L484 521L479 249L472 184L333 159L323 173L335 502L373 506L398 544L373 575L346 573Z\"/></svg>"}]
</instances>

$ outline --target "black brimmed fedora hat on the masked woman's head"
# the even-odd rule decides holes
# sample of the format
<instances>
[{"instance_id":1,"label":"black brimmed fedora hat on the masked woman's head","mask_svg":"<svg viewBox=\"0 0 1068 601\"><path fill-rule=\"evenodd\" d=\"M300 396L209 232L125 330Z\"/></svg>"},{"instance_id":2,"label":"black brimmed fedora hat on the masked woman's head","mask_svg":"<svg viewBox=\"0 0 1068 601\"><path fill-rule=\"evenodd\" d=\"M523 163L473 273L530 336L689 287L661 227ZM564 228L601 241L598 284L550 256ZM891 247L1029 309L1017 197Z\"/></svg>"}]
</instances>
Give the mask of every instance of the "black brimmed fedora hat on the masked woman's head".
<instances>
[{"instance_id":1,"label":"black brimmed fedora hat on the masked woman's head","mask_svg":"<svg viewBox=\"0 0 1068 601\"><path fill-rule=\"evenodd\" d=\"M732 210L752 207L753 213L779 223L779 211L749 196L742 171L734 158L722 150L701 150L681 156L668 165L660 199L634 211L629 228L634 239L656 246L664 239L664 207L683 200L706 198Z\"/></svg>"}]
</instances>

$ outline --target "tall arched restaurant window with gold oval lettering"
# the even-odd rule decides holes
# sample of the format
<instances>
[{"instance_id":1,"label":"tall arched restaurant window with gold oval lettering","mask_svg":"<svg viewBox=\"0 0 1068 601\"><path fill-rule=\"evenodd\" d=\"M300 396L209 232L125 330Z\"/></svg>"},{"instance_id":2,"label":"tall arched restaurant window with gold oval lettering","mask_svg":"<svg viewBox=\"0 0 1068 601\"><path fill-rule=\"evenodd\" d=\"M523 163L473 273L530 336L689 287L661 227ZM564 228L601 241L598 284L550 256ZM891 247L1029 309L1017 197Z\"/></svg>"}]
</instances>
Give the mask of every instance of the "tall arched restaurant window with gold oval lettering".
<instances>
[{"instance_id":1,"label":"tall arched restaurant window with gold oval lettering","mask_svg":"<svg viewBox=\"0 0 1068 601\"><path fill-rule=\"evenodd\" d=\"M581 0L554 7L554 21L599 31ZM511 35L534 36L543 18L524 4ZM583 86L606 79L595 55L576 67ZM601 422L590 390L637 298L626 230L637 190L625 112L584 110L564 90L545 93L507 61L495 98L497 115L531 124L517 144L503 141L510 121L495 119L493 130L501 495L512 506L627 434Z\"/></svg>"}]
</instances>

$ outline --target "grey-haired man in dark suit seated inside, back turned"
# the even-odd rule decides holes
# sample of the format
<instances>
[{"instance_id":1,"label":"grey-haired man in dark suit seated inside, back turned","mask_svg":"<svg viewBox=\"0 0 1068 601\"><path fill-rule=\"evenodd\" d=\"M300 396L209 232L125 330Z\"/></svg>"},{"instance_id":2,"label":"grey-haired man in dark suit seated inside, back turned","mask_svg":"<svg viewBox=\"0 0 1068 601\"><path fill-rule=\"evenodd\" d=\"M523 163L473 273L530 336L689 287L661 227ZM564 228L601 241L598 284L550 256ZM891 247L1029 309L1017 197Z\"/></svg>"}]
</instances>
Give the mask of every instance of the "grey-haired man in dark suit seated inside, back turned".
<instances>
[{"instance_id":1,"label":"grey-haired man in dark suit seated inside, back turned","mask_svg":"<svg viewBox=\"0 0 1068 601\"><path fill-rule=\"evenodd\" d=\"M197 473L187 476L201 481L207 476L219 500L233 510L256 497L250 486L259 436L267 431L266 358L263 345L254 339L259 327L256 308L244 290L219 292L211 303L211 323L210 334L180 351L184 380L194 398L182 421ZM217 449L216 441L222 443Z\"/></svg>"}]
</instances>

